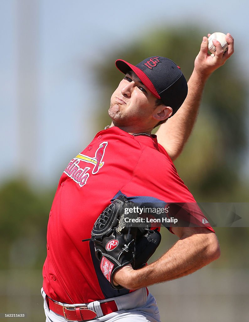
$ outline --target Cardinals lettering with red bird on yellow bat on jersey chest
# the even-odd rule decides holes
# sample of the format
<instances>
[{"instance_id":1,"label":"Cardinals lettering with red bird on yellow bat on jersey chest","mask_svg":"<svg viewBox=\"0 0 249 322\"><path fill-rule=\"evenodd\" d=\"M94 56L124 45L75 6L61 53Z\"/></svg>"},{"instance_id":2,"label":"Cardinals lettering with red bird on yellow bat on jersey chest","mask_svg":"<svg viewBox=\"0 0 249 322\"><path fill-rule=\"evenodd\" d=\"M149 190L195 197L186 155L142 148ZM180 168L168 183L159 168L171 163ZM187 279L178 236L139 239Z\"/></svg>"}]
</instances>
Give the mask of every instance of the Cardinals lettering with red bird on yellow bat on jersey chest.
<instances>
[{"instance_id":1,"label":"Cardinals lettering with red bird on yellow bat on jersey chest","mask_svg":"<svg viewBox=\"0 0 249 322\"><path fill-rule=\"evenodd\" d=\"M102 159L107 144L108 142L102 142L99 145L99 148L96 150L95 156L93 157L89 157L82 153L79 153L72 161L69 162L64 173L68 175L71 179L73 179L80 187L85 185L89 177L88 170L90 170L90 167L86 166L84 169L82 169L78 166L78 164L80 163L80 161L93 164L94 167L92 170L92 174L95 175L99 171L99 169L102 168L102 166L104 165Z\"/></svg>"}]
</instances>

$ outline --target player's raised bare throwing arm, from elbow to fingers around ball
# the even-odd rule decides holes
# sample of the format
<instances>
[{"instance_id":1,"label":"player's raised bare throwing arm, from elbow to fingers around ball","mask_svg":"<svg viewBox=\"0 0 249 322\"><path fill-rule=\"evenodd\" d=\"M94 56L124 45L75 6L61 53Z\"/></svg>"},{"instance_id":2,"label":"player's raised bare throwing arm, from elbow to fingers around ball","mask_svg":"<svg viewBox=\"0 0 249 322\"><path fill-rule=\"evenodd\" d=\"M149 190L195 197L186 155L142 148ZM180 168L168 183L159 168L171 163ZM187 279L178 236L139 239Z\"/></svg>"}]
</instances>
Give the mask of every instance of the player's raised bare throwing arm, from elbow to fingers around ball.
<instances>
[{"instance_id":1,"label":"player's raised bare throwing arm, from elbow to fingers around ball","mask_svg":"<svg viewBox=\"0 0 249 322\"><path fill-rule=\"evenodd\" d=\"M194 70L188 81L187 98L176 114L169 118L165 124L162 124L156 132L158 143L165 148L172 160L175 160L180 155L191 134L207 79L234 52L234 39L230 33L227 33L226 41L228 50L225 54L223 54L220 43L213 41L216 47L216 54L212 57L208 54L208 38L203 37L200 52L194 62Z\"/></svg>"}]
</instances>

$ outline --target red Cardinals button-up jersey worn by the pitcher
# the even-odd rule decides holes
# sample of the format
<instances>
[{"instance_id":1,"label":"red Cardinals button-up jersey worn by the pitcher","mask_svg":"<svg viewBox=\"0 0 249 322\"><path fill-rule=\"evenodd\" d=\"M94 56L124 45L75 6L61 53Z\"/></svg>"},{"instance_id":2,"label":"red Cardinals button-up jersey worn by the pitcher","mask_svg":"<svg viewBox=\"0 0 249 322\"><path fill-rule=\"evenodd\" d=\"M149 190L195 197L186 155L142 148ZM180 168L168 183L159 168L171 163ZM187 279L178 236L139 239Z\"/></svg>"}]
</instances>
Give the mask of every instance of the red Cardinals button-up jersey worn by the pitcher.
<instances>
[{"instance_id":1,"label":"red Cardinals button-up jersey worn by the pitcher","mask_svg":"<svg viewBox=\"0 0 249 322\"><path fill-rule=\"evenodd\" d=\"M120 194L138 203L195 203L155 135L133 136L117 127L100 131L64 170L49 213L43 289L50 298L88 303L129 292L111 288L93 243L82 242ZM205 218L198 211L194 216Z\"/></svg>"}]
</instances>

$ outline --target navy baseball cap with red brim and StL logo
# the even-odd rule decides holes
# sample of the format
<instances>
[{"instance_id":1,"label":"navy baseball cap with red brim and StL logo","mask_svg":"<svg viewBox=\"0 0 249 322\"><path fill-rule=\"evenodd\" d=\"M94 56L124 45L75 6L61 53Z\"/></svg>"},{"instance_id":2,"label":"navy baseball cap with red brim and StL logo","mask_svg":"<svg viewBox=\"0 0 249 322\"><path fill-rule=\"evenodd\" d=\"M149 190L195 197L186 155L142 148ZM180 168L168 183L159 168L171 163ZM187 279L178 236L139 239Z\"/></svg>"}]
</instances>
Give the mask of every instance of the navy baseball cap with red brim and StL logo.
<instances>
[{"instance_id":1,"label":"navy baseball cap with red brim and StL logo","mask_svg":"<svg viewBox=\"0 0 249 322\"><path fill-rule=\"evenodd\" d=\"M118 59L116 67L124 74L132 70L141 82L165 105L173 109L172 115L181 107L188 94L187 81L172 60L154 56L139 62L136 66Z\"/></svg>"}]
</instances>

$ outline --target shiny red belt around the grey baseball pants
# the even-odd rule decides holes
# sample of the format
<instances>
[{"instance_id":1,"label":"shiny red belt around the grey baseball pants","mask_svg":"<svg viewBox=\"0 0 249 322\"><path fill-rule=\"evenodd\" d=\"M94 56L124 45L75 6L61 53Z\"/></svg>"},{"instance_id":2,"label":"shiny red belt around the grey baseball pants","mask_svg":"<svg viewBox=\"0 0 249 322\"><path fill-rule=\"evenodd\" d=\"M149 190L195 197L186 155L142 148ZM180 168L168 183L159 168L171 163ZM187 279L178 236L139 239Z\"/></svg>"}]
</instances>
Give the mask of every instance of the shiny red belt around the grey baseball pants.
<instances>
[{"instance_id":1,"label":"shiny red belt around the grey baseball pants","mask_svg":"<svg viewBox=\"0 0 249 322\"><path fill-rule=\"evenodd\" d=\"M71 307L71 306L62 306L56 302L54 302L49 297L46 297L49 309L59 315L65 317L67 321L84 321L84 320L92 320L94 319L97 314L96 312L90 310L85 307ZM114 300L110 302L104 302L100 304L103 316L115 311L118 311L117 305Z\"/></svg>"}]
</instances>

